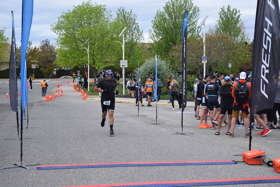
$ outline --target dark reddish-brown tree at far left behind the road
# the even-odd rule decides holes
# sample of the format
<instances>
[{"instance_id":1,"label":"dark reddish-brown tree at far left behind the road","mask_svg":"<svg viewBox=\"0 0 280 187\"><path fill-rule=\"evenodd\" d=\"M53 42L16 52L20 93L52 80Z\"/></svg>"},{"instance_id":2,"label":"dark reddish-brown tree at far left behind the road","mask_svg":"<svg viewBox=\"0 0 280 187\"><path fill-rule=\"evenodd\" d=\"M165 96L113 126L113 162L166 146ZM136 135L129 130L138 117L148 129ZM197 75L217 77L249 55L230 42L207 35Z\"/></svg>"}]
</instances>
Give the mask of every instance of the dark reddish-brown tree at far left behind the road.
<instances>
[{"instance_id":1,"label":"dark reddish-brown tree at far left behind the road","mask_svg":"<svg viewBox=\"0 0 280 187\"><path fill-rule=\"evenodd\" d=\"M55 46L50 44L50 40L41 41L38 51L38 65L45 77L51 78L54 69L57 67L54 64L56 58Z\"/></svg>"}]
</instances>

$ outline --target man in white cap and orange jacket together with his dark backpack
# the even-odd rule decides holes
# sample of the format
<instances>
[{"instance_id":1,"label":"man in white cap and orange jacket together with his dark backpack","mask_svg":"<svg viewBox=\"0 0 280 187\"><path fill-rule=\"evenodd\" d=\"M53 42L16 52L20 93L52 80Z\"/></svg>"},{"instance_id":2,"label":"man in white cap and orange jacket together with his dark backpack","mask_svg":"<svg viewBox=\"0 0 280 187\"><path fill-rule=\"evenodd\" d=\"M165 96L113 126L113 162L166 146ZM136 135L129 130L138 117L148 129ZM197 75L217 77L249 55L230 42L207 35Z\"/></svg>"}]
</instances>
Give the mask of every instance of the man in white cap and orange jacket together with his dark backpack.
<instances>
[{"instance_id":1,"label":"man in white cap and orange jacket together with his dark backpack","mask_svg":"<svg viewBox=\"0 0 280 187\"><path fill-rule=\"evenodd\" d=\"M241 110L244 120L245 136L249 137L248 132L248 114L249 114L249 104L248 100L251 98L251 83L246 81L246 72L241 72L239 75L239 80L235 81L232 85L232 97L234 98L233 108L232 108L232 124L230 128L230 137L234 137L234 128L236 125L236 119L239 117L239 111Z\"/></svg>"}]
</instances>

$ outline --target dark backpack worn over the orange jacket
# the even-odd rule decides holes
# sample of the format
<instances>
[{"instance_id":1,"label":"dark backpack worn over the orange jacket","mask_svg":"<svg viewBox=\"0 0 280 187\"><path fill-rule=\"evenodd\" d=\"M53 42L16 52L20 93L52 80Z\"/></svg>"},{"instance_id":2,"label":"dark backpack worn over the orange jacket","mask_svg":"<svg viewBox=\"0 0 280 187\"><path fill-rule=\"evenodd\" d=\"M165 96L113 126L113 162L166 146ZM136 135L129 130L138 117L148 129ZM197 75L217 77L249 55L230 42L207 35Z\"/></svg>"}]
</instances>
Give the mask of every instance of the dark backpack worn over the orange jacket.
<instances>
[{"instance_id":1,"label":"dark backpack worn over the orange jacket","mask_svg":"<svg viewBox=\"0 0 280 187\"><path fill-rule=\"evenodd\" d=\"M249 86L248 81L239 82L237 81L236 89L234 91L236 103L248 103L249 102Z\"/></svg>"}]
</instances>

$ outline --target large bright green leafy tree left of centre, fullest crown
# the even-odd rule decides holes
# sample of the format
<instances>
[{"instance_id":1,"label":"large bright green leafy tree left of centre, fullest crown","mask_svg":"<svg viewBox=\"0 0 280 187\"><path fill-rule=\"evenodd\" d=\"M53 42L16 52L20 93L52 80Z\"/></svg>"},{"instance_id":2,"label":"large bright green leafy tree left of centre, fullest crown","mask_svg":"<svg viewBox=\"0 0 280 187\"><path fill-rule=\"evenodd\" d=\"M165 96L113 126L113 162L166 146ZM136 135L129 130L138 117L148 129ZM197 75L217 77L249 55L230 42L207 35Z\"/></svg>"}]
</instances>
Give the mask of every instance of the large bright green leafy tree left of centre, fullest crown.
<instances>
[{"instance_id":1,"label":"large bright green leafy tree left of centre, fullest crown","mask_svg":"<svg viewBox=\"0 0 280 187\"><path fill-rule=\"evenodd\" d=\"M116 25L105 5L93 4L92 1L63 12L52 25L53 32L58 35L59 46L55 62L70 68L87 65L87 51L82 48L87 47L84 43L89 38L89 65L96 78L97 69L113 65L112 46L116 45L117 33L122 31Z\"/></svg>"}]
</instances>

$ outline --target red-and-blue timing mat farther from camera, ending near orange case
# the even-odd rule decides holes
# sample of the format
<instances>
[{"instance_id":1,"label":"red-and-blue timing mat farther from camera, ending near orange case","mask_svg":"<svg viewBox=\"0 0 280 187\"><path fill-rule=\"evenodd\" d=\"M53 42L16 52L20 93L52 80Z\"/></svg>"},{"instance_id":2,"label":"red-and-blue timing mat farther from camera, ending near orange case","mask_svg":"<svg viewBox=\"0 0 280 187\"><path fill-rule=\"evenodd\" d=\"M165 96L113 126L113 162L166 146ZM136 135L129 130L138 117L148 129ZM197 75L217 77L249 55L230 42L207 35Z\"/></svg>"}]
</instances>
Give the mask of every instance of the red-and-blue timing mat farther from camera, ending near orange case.
<instances>
[{"instance_id":1,"label":"red-and-blue timing mat farther from camera, ending near orange case","mask_svg":"<svg viewBox=\"0 0 280 187\"><path fill-rule=\"evenodd\" d=\"M185 166L185 165L222 165L237 164L232 160L218 161L179 161L179 162L122 162L99 164L65 164L65 165L40 165L37 169L74 169L90 167L135 167L135 166Z\"/></svg>"}]
</instances>

